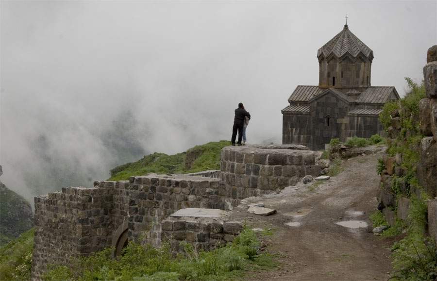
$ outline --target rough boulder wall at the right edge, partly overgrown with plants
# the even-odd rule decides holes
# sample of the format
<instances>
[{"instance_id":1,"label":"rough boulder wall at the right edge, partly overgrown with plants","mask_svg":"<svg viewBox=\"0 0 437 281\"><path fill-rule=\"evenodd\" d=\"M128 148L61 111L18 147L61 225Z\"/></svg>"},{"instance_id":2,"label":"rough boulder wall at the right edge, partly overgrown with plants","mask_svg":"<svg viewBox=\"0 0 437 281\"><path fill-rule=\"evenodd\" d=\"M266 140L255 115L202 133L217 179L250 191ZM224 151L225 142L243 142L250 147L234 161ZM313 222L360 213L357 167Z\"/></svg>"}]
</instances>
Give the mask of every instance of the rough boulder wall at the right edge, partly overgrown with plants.
<instances>
[{"instance_id":1,"label":"rough boulder wall at the right edge, partly overgrown with plants","mask_svg":"<svg viewBox=\"0 0 437 281\"><path fill-rule=\"evenodd\" d=\"M419 103L419 116L412 116L413 122L420 124L420 131L424 137L420 141L416 152L420 155L417 164L417 179L420 186L426 191L431 200L428 201L428 232L437 243L437 46L428 50L427 64L423 68L426 98ZM401 108L401 111L403 109ZM392 139L400 138L406 142L407 138L414 135L408 128L402 128L399 112L392 113L391 127L388 136ZM411 118L411 117L410 117ZM404 130L404 136L401 131ZM395 224L395 217L405 220L410 206L410 194L420 198L420 189L410 186L402 177L409 171L402 166L404 155L397 153L395 156L384 156L383 162L386 169L381 173L383 189L379 194L380 207L390 225ZM395 177L394 177L395 176ZM392 192L396 184L401 191L401 197L396 200Z\"/></svg>"}]
</instances>

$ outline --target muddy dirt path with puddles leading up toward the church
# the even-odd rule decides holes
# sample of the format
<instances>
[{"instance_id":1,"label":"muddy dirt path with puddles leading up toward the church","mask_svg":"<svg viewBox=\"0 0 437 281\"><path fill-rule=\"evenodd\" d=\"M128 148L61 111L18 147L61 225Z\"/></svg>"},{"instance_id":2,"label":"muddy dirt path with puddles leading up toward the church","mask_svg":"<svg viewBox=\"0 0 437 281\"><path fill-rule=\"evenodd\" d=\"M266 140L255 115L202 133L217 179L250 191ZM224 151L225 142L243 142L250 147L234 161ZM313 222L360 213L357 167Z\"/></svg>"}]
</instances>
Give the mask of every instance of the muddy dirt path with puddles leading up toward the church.
<instances>
[{"instance_id":1,"label":"muddy dirt path with puddles leading up toward the church","mask_svg":"<svg viewBox=\"0 0 437 281\"><path fill-rule=\"evenodd\" d=\"M344 161L343 172L320 185L300 182L277 195L243 200L232 216L255 228L271 228L273 235L264 242L283 263L276 271L253 272L247 280L387 280L393 241L373 235L369 219L377 206L375 166L381 152ZM247 213L247 205L257 202L277 214ZM361 227L337 224L351 220Z\"/></svg>"}]
</instances>

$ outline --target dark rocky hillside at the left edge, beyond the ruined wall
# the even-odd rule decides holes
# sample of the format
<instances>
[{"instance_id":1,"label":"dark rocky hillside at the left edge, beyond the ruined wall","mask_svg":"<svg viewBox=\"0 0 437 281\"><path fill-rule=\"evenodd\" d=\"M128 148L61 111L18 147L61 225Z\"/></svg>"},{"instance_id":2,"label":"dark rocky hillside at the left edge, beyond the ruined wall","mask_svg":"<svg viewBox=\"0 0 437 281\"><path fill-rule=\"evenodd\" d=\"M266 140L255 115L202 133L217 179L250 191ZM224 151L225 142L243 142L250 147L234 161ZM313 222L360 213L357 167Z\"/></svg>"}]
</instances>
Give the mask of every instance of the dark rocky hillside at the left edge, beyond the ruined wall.
<instances>
[{"instance_id":1,"label":"dark rocky hillside at the left edge, beyond the ruined wall","mask_svg":"<svg viewBox=\"0 0 437 281\"><path fill-rule=\"evenodd\" d=\"M0 165L0 176L2 173ZM30 230L33 218L31 204L0 181L0 245Z\"/></svg>"}]
</instances>

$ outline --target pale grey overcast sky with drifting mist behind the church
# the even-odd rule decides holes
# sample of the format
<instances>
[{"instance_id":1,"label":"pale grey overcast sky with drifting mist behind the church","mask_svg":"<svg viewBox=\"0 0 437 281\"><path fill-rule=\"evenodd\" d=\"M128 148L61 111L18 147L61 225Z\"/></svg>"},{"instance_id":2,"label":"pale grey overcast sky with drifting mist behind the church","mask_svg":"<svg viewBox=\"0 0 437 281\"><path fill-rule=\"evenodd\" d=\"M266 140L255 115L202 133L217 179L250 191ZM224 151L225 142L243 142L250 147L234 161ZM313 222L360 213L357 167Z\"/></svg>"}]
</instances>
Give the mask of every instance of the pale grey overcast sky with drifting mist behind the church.
<instances>
[{"instance_id":1,"label":"pale grey overcast sky with drifting mist behind the church","mask_svg":"<svg viewBox=\"0 0 437 281\"><path fill-rule=\"evenodd\" d=\"M249 143L281 143L281 109L297 85L319 83L317 50L346 14L373 50L372 85L401 96L437 43L436 0L0 5L1 181L30 201L67 174L77 185L107 179L122 163L105 135L128 135L146 154L230 140L238 102L252 115ZM122 116L132 122L114 132Z\"/></svg>"}]
</instances>

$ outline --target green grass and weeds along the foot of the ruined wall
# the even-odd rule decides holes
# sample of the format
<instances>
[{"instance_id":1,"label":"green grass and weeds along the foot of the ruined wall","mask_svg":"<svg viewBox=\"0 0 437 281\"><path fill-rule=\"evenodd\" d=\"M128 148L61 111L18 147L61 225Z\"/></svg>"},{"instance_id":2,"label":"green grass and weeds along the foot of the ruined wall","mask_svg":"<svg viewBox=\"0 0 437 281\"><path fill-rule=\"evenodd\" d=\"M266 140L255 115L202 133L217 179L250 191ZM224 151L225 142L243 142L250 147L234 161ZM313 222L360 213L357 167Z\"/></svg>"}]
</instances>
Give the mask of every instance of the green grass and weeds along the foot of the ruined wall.
<instances>
[{"instance_id":1,"label":"green grass and weeds along the foot of the ruined wall","mask_svg":"<svg viewBox=\"0 0 437 281\"><path fill-rule=\"evenodd\" d=\"M248 226L232 243L210 252L181 243L185 253L173 252L171 241L153 248L129 242L124 254L112 259L111 249L53 266L42 280L240 280L245 272L272 270L274 256L259 251L260 241Z\"/></svg>"}]
</instances>

